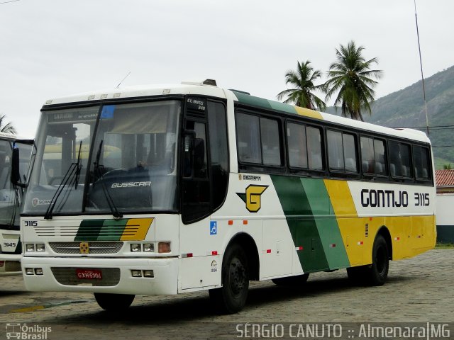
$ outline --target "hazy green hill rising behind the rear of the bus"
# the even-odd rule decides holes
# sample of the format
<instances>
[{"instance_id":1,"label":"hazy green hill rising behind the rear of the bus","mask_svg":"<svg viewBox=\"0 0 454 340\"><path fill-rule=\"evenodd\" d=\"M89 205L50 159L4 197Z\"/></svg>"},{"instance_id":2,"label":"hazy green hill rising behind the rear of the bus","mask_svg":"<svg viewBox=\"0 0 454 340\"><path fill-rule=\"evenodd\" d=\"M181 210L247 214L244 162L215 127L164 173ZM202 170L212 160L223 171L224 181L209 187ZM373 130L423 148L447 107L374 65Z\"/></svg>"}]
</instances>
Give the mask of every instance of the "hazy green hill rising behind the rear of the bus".
<instances>
[{"instance_id":1,"label":"hazy green hill rising behind the rear of the bus","mask_svg":"<svg viewBox=\"0 0 454 340\"><path fill-rule=\"evenodd\" d=\"M448 163L454 167L454 66L424 79L424 84L436 167L443 168ZM333 113L333 109L328 112ZM422 81L377 99L372 103L372 115L365 113L363 117L367 122L389 128L417 128L426 132Z\"/></svg>"}]
</instances>

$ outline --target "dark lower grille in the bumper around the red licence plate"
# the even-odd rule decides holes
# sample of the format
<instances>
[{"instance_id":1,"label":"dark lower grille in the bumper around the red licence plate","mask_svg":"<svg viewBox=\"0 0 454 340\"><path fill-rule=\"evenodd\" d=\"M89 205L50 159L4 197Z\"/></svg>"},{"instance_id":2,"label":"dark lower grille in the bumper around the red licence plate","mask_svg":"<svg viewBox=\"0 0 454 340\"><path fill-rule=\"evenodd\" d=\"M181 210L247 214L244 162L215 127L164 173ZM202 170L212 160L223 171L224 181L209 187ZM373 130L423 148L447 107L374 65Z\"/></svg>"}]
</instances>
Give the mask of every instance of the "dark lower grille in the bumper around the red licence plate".
<instances>
[{"instance_id":1,"label":"dark lower grille in the bumper around the red licence plate","mask_svg":"<svg viewBox=\"0 0 454 340\"><path fill-rule=\"evenodd\" d=\"M96 287L109 287L118 285L120 282L120 268L90 268L101 271L102 279L94 280L77 277L77 268L74 267L52 267L55 280L62 285L92 285Z\"/></svg>"}]
</instances>

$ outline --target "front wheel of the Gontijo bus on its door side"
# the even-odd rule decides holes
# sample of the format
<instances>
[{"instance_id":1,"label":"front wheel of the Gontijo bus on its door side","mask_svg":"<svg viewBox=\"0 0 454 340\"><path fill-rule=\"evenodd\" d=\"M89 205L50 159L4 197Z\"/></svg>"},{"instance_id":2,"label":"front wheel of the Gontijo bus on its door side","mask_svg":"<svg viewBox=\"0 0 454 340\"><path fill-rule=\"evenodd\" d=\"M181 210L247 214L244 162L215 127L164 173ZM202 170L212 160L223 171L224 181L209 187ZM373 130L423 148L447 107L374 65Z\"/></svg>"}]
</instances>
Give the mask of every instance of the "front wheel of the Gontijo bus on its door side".
<instances>
[{"instance_id":1,"label":"front wheel of the Gontijo bus on its door side","mask_svg":"<svg viewBox=\"0 0 454 340\"><path fill-rule=\"evenodd\" d=\"M221 279L221 288L209 290L211 301L219 312L239 312L245 306L249 289L248 260L239 244L233 244L226 250Z\"/></svg>"}]
</instances>

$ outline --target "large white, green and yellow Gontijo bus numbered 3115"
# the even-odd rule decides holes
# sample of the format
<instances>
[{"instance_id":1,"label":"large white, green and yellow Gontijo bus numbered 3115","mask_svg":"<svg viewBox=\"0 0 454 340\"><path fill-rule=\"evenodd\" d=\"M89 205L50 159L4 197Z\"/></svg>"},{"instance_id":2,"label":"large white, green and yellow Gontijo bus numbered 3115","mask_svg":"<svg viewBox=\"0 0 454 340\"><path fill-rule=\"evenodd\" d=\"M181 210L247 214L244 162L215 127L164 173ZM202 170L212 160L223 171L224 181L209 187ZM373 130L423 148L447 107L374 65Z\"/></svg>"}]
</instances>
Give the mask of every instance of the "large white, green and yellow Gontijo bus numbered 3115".
<instances>
[{"instance_id":1,"label":"large white, green and yellow Gontijo bus numbered 3115","mask_svg":"<svg viewBox=\"0 0 454 340\"><path fill-rule=\"evenodd\" d=\"M92 292L106 310L209 290L237 312L250 280L303 284L340 268L382 285L389 259L436 242L422 132L214 81L52 99L35 149L21 215L26 288Z\"/></svg>"}]
</instances>

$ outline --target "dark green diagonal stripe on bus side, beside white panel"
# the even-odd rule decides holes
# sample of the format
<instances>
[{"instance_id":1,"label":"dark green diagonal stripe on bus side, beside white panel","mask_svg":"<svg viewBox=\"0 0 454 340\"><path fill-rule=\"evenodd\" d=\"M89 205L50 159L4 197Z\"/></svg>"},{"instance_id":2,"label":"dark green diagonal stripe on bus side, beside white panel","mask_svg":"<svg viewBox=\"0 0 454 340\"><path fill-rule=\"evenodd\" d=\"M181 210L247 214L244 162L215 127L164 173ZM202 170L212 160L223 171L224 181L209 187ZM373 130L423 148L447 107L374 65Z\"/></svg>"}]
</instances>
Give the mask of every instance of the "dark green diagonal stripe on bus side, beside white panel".
<instances>
[{"instance_id":1,"label":"dark green diagonal stripe on bus side, beside white panel","mask_svg":"<svg viewBox=\"0 0 454 340\"><path fill-rule=\"evenodd\" d=\"M297 253L303 271L328 269L319 230L301 180L299 177L289 176L271 176L271 179L284 210L294 245L303 246L303 250Z\"/></svg>"}]
</instances>

